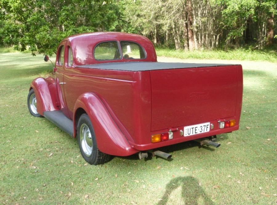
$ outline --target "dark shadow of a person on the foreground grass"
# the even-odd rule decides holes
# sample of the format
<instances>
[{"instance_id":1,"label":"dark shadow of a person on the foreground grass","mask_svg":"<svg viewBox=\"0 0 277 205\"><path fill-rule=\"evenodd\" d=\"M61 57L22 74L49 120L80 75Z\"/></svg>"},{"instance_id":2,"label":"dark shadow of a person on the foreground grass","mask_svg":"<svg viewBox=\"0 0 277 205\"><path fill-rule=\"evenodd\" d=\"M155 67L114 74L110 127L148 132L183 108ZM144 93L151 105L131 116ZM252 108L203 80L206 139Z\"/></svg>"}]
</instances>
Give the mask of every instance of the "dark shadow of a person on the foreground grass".
<instances>
[{"instance_id":1,"label":"dark shadow of a person on the foreground grass","mask_svg":"<svg viewBox=\"0 0 277 205\"><path fill-rule=\"evenodd\" d=\"M202 187L199 186L198 180L191 176L187 176L176 177L172 179L167 184L166 191L163 194L162 199L159 201L159 203L157 203L157 205L166 205L170 198L170 195L178 187L182 188L180 203L181 201L183 201L184 204L197 205L198 200L202 200L203 204L213 204L212 200L207 196Z\"/></svg>"}]
</instances>

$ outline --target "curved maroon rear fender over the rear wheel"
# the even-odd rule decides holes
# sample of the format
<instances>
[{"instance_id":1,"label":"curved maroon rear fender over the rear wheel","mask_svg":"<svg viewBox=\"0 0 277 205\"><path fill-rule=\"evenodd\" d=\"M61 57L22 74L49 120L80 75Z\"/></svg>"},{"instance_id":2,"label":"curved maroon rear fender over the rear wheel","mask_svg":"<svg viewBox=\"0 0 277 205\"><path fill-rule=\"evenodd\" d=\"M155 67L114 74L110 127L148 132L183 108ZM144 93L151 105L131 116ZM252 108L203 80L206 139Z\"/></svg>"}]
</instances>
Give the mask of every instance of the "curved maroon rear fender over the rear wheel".
<instances>
[{"instance_id":1,"label":"curved maroon rear fender over the rear wheel","mask_svg":"<svg viewBox=\"0 0 277 205\"><path fill-rule=\"evenodd\" d=\"M94 93L84 93L74 106L74 130L76 136L76 111L82 108L92 122L98 149L106 154L129 156L139 152L133 149L124 134L118 128L103 102Z\"/></svg>"}]
</instances>

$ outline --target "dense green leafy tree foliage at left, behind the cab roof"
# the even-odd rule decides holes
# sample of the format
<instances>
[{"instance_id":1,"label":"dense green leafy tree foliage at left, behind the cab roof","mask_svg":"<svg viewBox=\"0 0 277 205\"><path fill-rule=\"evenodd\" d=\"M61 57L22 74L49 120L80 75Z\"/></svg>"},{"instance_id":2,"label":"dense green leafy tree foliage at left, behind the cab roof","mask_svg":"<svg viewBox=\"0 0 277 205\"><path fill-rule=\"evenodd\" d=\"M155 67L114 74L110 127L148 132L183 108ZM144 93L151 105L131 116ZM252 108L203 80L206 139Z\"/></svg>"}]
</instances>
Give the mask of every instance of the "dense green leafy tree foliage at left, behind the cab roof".
<instances>
[{"instance_id":1,"label":"dense green leafy tree foliage at left, behind the cab roof","mask_svg":"<svg viewBox=\"0 0 277 205\"><path fill-rule=\"evenodd\" d=\"M112 0L2 0L0 44L52 55L67 36L116 30L118 12Z\"/></svg>"}]
</instances>

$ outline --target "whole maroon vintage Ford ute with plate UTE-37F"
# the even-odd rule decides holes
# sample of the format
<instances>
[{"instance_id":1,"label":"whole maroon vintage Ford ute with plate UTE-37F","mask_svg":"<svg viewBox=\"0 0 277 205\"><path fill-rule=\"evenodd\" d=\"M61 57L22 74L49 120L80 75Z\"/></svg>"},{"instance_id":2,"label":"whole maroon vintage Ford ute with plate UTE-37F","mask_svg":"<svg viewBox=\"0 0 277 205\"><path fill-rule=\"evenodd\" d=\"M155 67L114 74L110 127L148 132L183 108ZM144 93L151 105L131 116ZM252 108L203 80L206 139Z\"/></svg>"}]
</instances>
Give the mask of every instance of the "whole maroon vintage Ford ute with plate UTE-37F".
<instances>
[{"instance_id":1,"label":"whole maroon vintage Ford ute with plate UTE-37F","mask_svg":"<svg viewBox=\"0 0 277 205\"><path fill-rule=\"evenodd\" d=\"M29 111L77 137L90 164L168 158L158 148L189 140L218 147L216 135L239 129L241 65L160 63L144 36L97 32L64 39L54 72L31 83Z\"/></svg>"}]
</instances>

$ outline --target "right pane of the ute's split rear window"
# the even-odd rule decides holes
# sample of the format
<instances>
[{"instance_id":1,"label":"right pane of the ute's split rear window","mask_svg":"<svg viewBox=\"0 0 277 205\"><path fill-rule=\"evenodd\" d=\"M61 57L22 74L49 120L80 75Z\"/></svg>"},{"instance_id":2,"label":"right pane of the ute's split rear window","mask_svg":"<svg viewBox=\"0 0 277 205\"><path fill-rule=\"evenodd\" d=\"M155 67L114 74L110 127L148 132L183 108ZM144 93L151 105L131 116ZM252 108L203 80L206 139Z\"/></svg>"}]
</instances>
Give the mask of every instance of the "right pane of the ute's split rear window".
<instances>
[{"instance_id":1,"label":"right pane of the ute's split rear window","mask_svg":"<svg viewBox=\"0 0 277 205\"><path fill-rule=\"evenodd\" d=\"M146 58L144 49L136 43L121 41L120 42L123 58L125 59L143 59Z\"/></svg>"}]
</instances>

